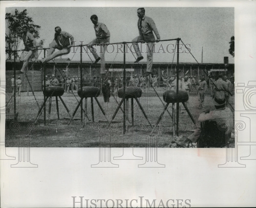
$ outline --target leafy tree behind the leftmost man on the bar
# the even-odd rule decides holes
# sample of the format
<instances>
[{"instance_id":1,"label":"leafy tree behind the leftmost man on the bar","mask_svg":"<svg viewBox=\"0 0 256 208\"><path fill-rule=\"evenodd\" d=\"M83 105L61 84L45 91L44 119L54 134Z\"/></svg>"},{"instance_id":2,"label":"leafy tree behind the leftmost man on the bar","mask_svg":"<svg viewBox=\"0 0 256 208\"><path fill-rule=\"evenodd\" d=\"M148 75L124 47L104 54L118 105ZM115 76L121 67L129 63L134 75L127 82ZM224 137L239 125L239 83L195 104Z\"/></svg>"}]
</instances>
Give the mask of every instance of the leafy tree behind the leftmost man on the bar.
<instances>
[{"instance_id":1,"label":"leafy tree behind the leftmost man on the bar","mask_svg":"<svg viewBox=\"0 0 256 208\"><path fill-rule=\"evenodd\" d=\"M27 10L23 10L19 12L15 9L15 14L6 13L5 14L6 25L8 25L8 29L6 28L5 32L5 53L8 54L8 59L11 59L13 50L17 50L18 44L22 40L22 28L26 25L28 28L28 32L33 34L35 38L39 38L38 29L39 25L34 24L31 17L27 16ZM38 47L42 47L44 44L44 40L40 40L38 42ZM16 53L17 54L17 53Z\"/></svg>"}]
</instances>

